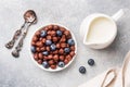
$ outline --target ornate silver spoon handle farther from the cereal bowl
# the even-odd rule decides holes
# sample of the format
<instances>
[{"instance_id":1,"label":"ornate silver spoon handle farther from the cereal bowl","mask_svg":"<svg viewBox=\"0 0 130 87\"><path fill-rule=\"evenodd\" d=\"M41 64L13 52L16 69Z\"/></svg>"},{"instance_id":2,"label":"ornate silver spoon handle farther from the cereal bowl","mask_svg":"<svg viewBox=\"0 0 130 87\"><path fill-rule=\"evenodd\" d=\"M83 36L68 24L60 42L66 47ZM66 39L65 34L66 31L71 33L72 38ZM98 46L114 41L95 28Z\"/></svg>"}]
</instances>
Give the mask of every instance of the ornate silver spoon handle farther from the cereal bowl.
<instances>
[{"instance_id":1,"label":"ornate silver spoon handle farther from the cereal bowl","mask_svg":"<svg viewBox=\"0 0 130 87\"><path fill-rule=\"evenodd\" d=\"M25 23L21 26L20 29L17 29L17 30L14 33L14 36L13 36L12 40L10 40L8 44L5 44L5 47L6 47L8 49L12 49L12 48L13 48L15 41L16 41L16 40L18 39L18 37L21 36L22 29L24 28L24 26L25 26Z\"/></svg>"}]
</instances>

